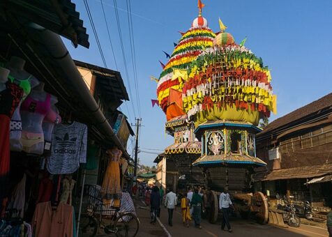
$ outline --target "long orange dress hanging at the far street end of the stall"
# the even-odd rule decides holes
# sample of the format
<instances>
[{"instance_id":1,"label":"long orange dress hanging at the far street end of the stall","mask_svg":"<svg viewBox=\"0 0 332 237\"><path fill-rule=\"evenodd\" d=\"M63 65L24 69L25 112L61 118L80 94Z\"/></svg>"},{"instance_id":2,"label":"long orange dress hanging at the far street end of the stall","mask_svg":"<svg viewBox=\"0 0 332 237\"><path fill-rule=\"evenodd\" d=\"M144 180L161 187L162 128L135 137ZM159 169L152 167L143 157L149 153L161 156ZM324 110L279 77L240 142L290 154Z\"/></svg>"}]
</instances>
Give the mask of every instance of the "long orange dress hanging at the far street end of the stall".
<instances>
[{"instance_id":1,"label":"long orange dress hanging at the far street end of the stall","mask_svg":"<svg viewBox=\"0 0 332 237\"><path fill-rule=\"evenodd\" d=\"M112 204L112 206L120 206L121 199L121 180L120 166L122 151L118 148L108 150L110 161L108 163L101 194L103 195L104 204Z\"/></svg>"}]
</instances>

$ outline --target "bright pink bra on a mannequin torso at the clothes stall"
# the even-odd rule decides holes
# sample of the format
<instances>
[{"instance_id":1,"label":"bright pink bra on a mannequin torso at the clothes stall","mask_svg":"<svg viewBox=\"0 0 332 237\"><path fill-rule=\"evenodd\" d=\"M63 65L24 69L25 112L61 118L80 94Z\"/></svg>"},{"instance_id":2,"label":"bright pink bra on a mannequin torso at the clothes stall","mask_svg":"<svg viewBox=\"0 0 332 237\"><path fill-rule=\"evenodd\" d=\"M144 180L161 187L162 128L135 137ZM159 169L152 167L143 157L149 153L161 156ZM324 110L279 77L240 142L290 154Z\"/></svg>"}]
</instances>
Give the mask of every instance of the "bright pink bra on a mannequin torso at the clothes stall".
<instances>
[{"instance_id":1,"label":"bright pink bra on a mannequin torso at the clothes stall","mask_svg":"<svg viewBox=\"0 0 332 237\"><path fill-rule=\"evenodd\" d=\"M51 108L51 95L47 93L45 101L38 101L28 96L22 103L21 110L46 115Z\"/></svg>"}]
</instances>

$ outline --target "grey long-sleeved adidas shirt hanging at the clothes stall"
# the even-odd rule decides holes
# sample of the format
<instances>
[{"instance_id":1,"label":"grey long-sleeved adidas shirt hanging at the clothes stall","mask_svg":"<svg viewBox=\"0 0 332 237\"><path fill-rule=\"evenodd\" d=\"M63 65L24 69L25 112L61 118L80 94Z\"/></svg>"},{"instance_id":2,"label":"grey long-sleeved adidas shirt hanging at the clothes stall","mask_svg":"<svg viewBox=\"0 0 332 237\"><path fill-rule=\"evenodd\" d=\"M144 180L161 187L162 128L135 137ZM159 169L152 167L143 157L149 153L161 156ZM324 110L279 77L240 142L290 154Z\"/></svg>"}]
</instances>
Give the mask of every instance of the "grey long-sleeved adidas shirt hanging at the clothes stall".
<instances>
[{"instance_id":1,"label":"grey long-sleeved adidas shirt hanging at the clothes stall","mask_svg":"<svg viewBox=\"0 0 332 237\"><path fill-rule=\"evenodd\" d=\"M47 161L51 174L72 174L86 162L87 127L83 123L54 126L52 155Z\"/></svg>"}]
</instances>

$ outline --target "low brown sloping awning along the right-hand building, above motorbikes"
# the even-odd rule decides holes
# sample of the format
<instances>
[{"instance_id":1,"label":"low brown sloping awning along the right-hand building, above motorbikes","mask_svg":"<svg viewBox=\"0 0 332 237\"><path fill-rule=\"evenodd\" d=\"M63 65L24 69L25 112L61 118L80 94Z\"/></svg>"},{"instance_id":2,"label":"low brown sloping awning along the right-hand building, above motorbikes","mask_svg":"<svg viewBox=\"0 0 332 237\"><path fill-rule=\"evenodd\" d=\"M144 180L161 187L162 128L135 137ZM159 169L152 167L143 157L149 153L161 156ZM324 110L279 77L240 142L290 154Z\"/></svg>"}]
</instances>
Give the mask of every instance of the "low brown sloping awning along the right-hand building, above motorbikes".
<instances>
[{"instance_id":1,"label":"low brown sloping awning along the right-hand building, above motorbikes","mask_svg":"<svg viewBox=\"0 0 332 237\"><path fill-rule=\"evenodd\" d=\"M296 167L290 169L276 169L273 171L257 172L254 180L257 181L276 181L292 178L314 178L332 174L332 163L324 165L312 165L308 167Z\"/></svg>"}]
</instances>

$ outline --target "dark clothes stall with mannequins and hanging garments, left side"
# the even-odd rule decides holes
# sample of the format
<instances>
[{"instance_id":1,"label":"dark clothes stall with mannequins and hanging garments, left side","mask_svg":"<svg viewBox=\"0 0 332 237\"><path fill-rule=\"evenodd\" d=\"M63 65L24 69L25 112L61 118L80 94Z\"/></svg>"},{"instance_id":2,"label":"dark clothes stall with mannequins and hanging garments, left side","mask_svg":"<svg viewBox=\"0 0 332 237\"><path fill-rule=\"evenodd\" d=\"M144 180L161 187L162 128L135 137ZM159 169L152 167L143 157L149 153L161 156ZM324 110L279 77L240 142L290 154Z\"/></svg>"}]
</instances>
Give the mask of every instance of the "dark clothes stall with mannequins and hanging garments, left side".
<instances>
[{"instance_id":1,"label":"dark clothes stall with mannequins and hanging garments, left side","mask_svg":"<svg viewBox=\"0 0 332 237\"><path fill-rule=\"evenodd\" d=\"M89 47L75 5L40 4L0 4L3 236L77 236L84 183L103 183L103 198L116 206L121 174L127 174L126 141L107 121L59 36Z\"/></svg>"}]
</instances>

